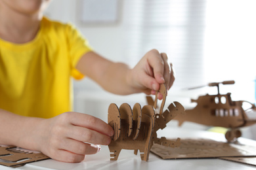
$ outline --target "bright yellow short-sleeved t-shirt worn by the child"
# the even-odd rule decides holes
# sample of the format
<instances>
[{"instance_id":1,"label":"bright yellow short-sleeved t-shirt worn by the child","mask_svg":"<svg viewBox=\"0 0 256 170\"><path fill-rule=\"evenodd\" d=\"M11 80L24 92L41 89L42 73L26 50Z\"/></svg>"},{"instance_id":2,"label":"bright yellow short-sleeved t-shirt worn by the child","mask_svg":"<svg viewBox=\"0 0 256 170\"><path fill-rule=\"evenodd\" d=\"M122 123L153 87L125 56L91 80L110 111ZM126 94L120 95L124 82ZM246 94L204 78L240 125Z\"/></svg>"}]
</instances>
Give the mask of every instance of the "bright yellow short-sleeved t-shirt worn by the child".
<instances>
[{"instance_id":1,"label":"bright yellow short-sleeved t-shirt worn by the child","mask_svg":"<svg viewBox=\"0 0 256 170\"><path fill-rule=\"evenodd\" d=\"M23 116L51 118L72 110L72 76L87 41L70 24L41 21L33 41L0 39L0 108Z\"/></svg>"}]
</instances>

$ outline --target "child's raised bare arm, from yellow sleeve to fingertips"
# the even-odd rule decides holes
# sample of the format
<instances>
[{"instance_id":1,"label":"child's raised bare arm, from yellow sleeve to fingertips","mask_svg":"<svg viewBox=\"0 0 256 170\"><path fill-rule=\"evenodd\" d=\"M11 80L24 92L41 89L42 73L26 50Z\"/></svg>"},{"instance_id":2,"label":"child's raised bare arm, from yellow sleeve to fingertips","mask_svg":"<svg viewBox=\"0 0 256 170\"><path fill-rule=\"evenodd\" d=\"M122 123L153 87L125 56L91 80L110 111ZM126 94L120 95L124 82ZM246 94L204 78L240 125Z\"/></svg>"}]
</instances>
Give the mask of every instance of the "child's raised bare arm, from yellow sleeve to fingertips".
<instances>
[{"instance_id":1,"label":"child's raised bare arm, from yellow sleeve to fingertips","mask_svg":"<svg viewBox=\"0 0 256 170\"><path fill-rule=\"evenodd\" d=\"M165 83L168 89L173 85L175 77L167 60L166 54L150 50L133 69L130 69L124 63L114 63L95 52L89 52L79 60L77 69L112 93L154 94L162 83Z\"/></svg>"}]
</instances>

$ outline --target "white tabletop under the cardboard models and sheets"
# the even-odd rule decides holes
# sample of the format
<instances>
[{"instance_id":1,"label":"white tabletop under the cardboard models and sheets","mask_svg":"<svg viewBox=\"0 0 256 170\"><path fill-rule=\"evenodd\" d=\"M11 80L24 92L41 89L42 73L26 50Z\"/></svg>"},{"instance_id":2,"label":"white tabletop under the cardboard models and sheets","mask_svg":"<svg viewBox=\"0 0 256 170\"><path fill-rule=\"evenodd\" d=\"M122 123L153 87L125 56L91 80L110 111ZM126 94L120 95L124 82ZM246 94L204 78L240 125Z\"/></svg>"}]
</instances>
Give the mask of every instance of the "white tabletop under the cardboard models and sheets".
<instances>
[{"instance_id":1,"label":"white tabletop under the cardboard models and sheets","mask_svg":"<svg viewBox=\"0 0 256 170\"><path fill-rule=\"evenodd\" d=\"M193 131L188 129L179 129L168 127L164 131L158 131L158 137L165 136L167 138L189 137L193 139L205 138L215 139L217 141L225 141L224 135L208 131ZM240 143L256 146L256 141L240 138ZM0 169L14 169L0 165ZM186 159L186 160L162 160L153 153L150 153L148 162L140 160L139 154L133 154L133 150L121 150L117 161L110 161L110 152L108 146L102 146L102 150L98 154L87 156L81 163L64 163L55 160L44 160L34 163L27 163L16 169L32 170L32 169L256 169L256 166L245 165L232 161L219 159ZM15 169L15 170L16 170Z\"/></svg>"}]
</instances>

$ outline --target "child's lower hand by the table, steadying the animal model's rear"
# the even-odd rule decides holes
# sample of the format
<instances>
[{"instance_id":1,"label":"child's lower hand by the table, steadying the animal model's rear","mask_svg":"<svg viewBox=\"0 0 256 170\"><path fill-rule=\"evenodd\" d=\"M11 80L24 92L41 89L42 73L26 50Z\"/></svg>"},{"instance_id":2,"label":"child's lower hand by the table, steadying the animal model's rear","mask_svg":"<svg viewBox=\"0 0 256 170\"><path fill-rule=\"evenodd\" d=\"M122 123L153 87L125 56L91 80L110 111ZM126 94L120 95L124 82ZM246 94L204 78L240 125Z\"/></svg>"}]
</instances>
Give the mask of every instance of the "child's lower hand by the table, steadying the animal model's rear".
<instances>
[{"instance_id":1,"label":"child's lower hand by the table, steadying the animal model's rear","mask_svg":"<svg viewBox=\"0 0 256 170\"><path fill-rule=\"evenodd\" d=\"M65 112L41 123L35 138L38 150L58 161L83 161L85 155L96 154L100 144L110 144L114 135L102 120L79 112Z\"/></svg>"}]
</instances>

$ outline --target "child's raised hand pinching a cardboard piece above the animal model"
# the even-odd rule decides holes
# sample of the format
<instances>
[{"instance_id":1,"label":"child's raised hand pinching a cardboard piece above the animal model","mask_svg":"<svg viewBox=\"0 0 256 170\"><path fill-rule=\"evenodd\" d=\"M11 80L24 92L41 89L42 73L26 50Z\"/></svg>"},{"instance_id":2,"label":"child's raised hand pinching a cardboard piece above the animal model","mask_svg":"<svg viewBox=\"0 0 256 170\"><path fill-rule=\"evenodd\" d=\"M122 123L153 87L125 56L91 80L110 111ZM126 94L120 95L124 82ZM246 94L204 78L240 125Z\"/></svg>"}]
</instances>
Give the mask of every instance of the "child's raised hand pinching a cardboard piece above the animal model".
<instances>
[{"instance_id":1,"label":"child's raised hand pinching a cardboard piece above the animal model","mask_svg":"<svg viewBox=\"0 0 256 170\"><path fill-rule=\"evenodd\" d=\"M147 52L129 75L131 86L148 95L156 94L163 83L169 90L174 80L173 65L168 62L167 55L160 54L158 50ZM158 95L158 99L162 99L162 96Z\"/></svg>"}]
</instances>

